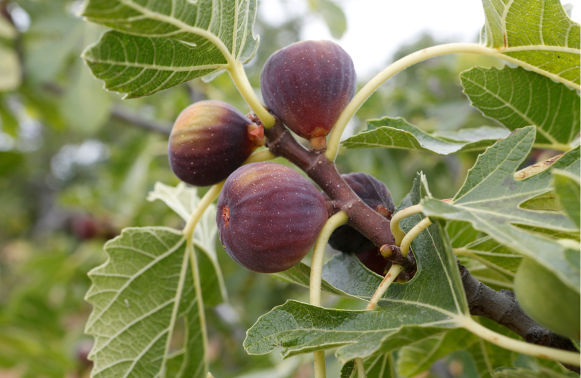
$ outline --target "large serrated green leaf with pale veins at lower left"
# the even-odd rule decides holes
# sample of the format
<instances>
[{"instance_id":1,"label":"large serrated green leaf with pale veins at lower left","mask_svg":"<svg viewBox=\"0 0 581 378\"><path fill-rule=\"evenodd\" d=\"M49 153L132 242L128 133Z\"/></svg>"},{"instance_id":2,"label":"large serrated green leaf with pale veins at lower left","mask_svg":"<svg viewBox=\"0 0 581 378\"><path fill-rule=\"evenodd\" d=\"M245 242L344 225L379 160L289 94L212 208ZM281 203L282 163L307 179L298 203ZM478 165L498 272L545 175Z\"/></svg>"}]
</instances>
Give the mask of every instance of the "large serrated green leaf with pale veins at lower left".
<instances>
[{"instance_id":1,"label":"large serrated green leaf with pale veins at lower left","mask_svg":"<svg viewBox=\"0 0 581 378\"><path fill-rule=\"evenodd\" d=\"M206 377L204 305L192 271L200 252L167 227L127 228L105 251L86 296L91 376Z\"/></svg>"}]
</instances>

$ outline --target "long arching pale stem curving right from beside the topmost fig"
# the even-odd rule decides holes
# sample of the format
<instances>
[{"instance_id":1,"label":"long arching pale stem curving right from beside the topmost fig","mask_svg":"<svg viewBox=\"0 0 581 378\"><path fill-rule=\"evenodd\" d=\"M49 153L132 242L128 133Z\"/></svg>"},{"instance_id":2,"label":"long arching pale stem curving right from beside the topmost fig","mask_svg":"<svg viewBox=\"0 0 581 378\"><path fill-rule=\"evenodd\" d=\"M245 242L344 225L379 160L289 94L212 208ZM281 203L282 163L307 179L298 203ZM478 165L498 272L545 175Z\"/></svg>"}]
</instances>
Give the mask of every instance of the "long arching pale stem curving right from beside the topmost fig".
<instances>
[{"instance_id":1,"label":"long arching pale stem curving right from beside the topmost fig","mask_svg":"<svg viewBox=\"0 0 581 378\"><path fill-rule=\"evenodd\" d=\"M341 140L341 135L347 123L353 115L358 111L361 105L379 88L386 80L394 76L400 71L403 71L407 67L415 65L416 63L421 62L422 60L426 60L429 58L434 58L435 56L441 56L446 54L456 54L456 53L468 53L468 54L480 54L480 55L488 55L494 56L495 58L499 58L502 60L506 60L510 63L515 63L516 65L520 65L520 67L524 67L531 71L534 71L538 74L545 75L553 80L558 82L562 82L570 87L575 89L581 89L581 86L561 78L556 74L551 74L547 71L539 69L538 67L534 67L533 65L529 65L524 63L518 59L512 58L511 56L507 56L503 53L505 52L512 52L516 51L514 47L498 47L498 48L491 48L481 45L479 43L446 43L444 45L437 45L428 47L427 49L422 49L413 54L409 54L408 56L404 56L388 67L386 67L383 71L381 71L375 78L371 79L356 95L353 97L351 102L347 104L347 107L343 109L341 115L339 116L338 120L335 122L335 126L331 131L331 135L329 135L329 141L327 142L327 151L325 155L327 158L333 162L337 157L337 151L339 149L339 144ZM571 48L571 51L575 54L579 54L578 49Z\"/></svg>"}]
</instances>

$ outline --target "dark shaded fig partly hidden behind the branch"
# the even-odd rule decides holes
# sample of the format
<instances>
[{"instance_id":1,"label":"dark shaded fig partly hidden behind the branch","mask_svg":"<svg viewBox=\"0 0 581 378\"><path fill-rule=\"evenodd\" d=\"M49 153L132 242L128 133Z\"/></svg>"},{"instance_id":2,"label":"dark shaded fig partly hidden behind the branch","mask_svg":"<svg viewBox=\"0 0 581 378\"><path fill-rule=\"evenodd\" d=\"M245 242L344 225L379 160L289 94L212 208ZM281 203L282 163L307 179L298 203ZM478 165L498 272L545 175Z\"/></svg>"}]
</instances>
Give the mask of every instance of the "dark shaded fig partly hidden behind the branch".
<instances>
[{"instance_id":1,"label":"dark shaded fig partly hidden behind the branch","mask_svg":"<svg viewBox=\"0 0 581 378\"><path fill-rule=\"evenodd\" d=\"M382 206L383 209L380 210L383 212L387 210L389 214L384 215L388 215L388 218L391 219L395 205L391 199L391 193L384 183L366 173L349 173L341 175L341 177L366 205L375 211L378 210L379 206ZM325 199L329 199L326 194ZM368 238L349 225L342 225L333 231L329 238L329 244L334 249L346 254L360 254L374 247Z\"/></svg>"}]
</instances>

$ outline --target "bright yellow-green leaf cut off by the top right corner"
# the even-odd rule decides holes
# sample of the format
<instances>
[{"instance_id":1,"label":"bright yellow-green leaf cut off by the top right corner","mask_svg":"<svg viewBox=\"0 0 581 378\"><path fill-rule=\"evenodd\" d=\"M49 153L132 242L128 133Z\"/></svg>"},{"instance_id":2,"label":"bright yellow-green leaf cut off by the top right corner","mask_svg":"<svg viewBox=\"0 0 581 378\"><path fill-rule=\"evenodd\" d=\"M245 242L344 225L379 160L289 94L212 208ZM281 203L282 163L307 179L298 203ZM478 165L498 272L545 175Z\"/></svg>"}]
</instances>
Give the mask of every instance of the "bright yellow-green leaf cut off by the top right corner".
<instances>
[{"instance_id":1,"label":"bright yellow-green leaf cut off by the top right corner","mask_svg":"<svg viewBox=\"0 0 581 378\"><path fill-rule=\"evenodd\" d=\"M580 25L559 0L482 0L481 43L503 58L552 79L580 87Z\"/></svg>"}]
</instances>

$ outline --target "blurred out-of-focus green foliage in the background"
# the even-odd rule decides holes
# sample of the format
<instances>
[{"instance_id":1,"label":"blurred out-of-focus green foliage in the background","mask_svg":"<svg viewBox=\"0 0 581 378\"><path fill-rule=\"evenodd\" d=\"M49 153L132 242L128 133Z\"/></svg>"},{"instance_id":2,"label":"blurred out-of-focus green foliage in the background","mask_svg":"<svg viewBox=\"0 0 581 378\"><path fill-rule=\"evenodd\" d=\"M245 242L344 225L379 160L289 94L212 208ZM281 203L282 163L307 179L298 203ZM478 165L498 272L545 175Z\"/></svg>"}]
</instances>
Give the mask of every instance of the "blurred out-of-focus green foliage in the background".
<instances>
[{"instance_id":1,"label":"blurred out-of-focus green foliage in the background","mask_svg":"<svg viewBox=\"0 0 581 378\"><path fill-rule=\"evenodd\" d=\"M155 181L175 185L177 178L168 168L167 136L143 125L168 130L179 111L205 98L248 112L228 75L130 101L102 90L79 55L103 29L76 16L81 4L0 0L0 376L88 376L91 340L83 328L91 309L83 296L90 285L87 271L105 259L102 244L130 225L182 227L160 201L145 200ZM259 12L255 33L261 45L247 68L256 89L265 60L298 41L309 19L322 17L337 37L347 27L338 2L309 0L307 5L311 17L297 15L277 25ZM442 42L421 36L401 47L393 60ZM19 64L6 63L8 55ZM458 74L474 65L498 62L454 55L406 69L364 104L351 132L360 131L364 120L384 115L402 116L426 131L496 126L471 108L461 91ZM11 80L4 80L8 69ZM120 116L127 112L135 122ZM419 170L435 197L452 196L475 158L476 153L439 156L382 149L343 151L337 162L341 173L362 171L384 181L399 203ZM208 310L210 371L215 377L234 377L278 366L276 353L245 353L245 331L288 298L307 302L307 290L241 269L224 253L219 263L230 303ZM363 308L362 302L332 297L324 297L324 305ZM281 365L288 370L285 376L312 375L310 358L301 358ZM475 374L462 353L439 362L430 374L444 376L440 370L454 377ZM329 377L340 371L331 353L327 371Z\"/></svg>"}]
</instances>

